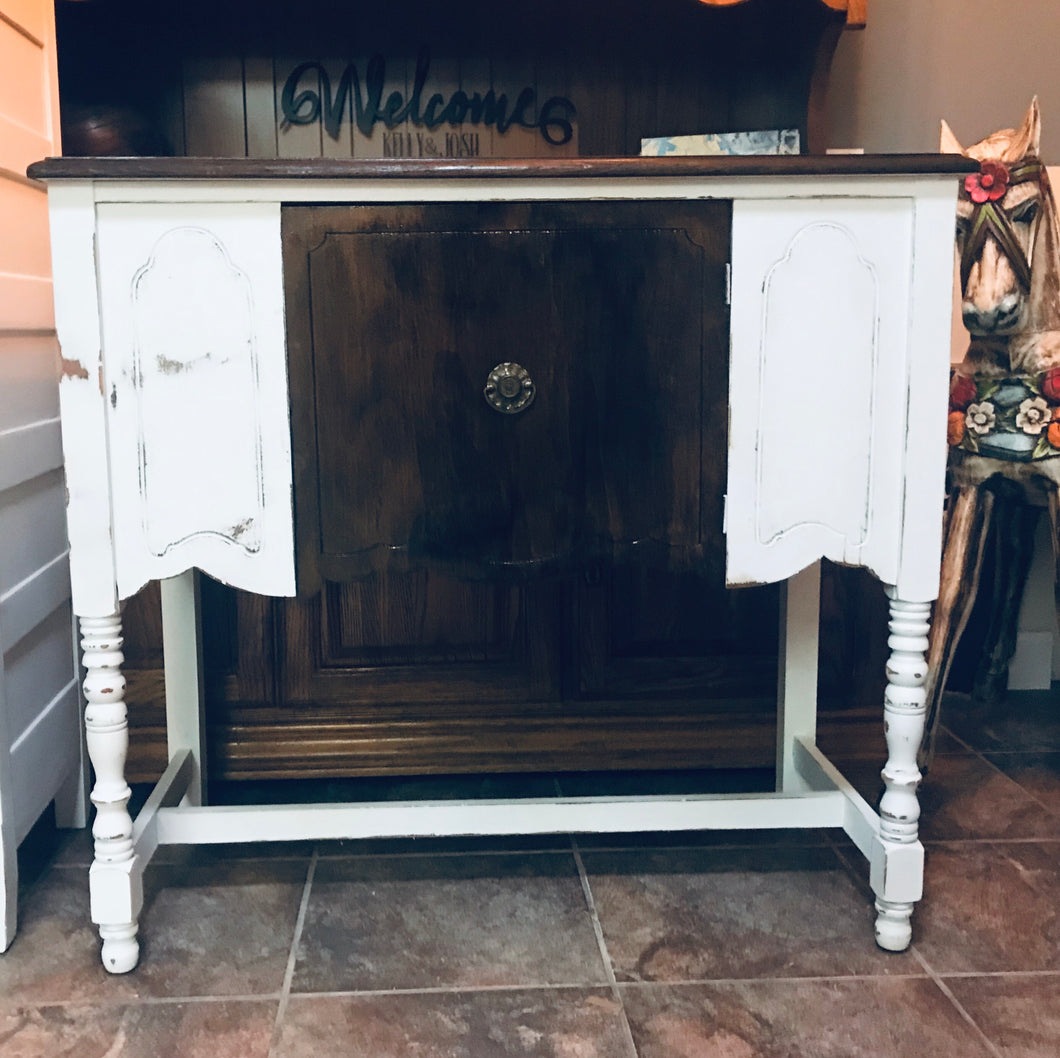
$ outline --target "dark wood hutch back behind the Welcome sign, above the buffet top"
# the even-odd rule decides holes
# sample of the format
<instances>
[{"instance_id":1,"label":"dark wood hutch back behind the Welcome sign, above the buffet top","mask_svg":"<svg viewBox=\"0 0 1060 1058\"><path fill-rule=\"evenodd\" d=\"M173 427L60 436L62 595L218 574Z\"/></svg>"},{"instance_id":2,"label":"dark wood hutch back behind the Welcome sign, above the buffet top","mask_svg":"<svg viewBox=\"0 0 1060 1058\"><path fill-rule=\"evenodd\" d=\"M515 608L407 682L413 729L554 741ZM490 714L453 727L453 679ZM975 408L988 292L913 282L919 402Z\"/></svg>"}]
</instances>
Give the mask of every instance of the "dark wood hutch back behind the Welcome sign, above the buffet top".
<instances>
[{"instance_id":1,"label":"dark wood hutch back behind the Welcome sign, above the buffet top","mask_svg":"<svg viewBox=\"0 0 1060 1058\"><path fill-rule=\"evenodd\" d=\"M59 0L59 82L68 106L135 113L174 153L378 156L378 144L350 135L348 117L338 140L319 125L280 125L283 81L319 59L334 90L348 63L364 80L368 58L382 54L386 91L401 89L427 46L428 92L462 85L514 95L529 86L538 102L567 95L584 156L636 155L648 136L791 127L823 151L809 101L823 94L844 21L820 0L464 0L458 16L430 0ZM482 135L497 153L549 153L529 130Z\"/></svg>"}]
</instances>

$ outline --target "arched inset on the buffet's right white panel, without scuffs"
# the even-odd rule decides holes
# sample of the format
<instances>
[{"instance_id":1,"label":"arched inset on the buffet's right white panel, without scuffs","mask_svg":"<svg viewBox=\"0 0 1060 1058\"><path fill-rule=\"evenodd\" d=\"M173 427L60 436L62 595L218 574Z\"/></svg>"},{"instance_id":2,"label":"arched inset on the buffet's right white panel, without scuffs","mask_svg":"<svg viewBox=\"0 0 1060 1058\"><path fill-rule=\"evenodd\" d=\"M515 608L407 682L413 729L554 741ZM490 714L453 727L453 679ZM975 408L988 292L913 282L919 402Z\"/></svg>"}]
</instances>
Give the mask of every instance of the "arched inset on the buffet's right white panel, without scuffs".
<instances>
[{"instance_id":1,"label":"arched inset on the buffet's right white panel, without scuffs","mask_svg":"<svg viewBox=\"0 0 1060 1058\"><path fill-rule=\"evenodd\" d=\"M837 546L861 547L870 507L876 271L848 229L813 224L770 269L764 289L756 539L771 545L814 526Z\"/></svg>"}]
</instances>

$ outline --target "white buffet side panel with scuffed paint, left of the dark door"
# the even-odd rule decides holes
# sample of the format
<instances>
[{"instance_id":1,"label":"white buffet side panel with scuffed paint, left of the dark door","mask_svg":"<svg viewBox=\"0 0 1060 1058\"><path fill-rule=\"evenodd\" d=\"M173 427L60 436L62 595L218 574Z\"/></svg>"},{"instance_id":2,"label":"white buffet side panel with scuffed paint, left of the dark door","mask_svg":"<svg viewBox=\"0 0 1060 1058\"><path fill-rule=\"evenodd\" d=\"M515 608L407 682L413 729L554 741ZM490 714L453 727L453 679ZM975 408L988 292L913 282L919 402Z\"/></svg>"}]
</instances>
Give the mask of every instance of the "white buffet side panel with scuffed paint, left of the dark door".
<instances>
[{"instance_id":1,"label":"white buffet side panel with scuffed paint, left of the dark door","mask_svg":"<svg viewBox=\"0 0 1060 1058\"><path fill-rule=\"evenodd\" d=\"M293 595L279 206L98 223L120 597L192 567Z\"/></svg>"}]
</instances>

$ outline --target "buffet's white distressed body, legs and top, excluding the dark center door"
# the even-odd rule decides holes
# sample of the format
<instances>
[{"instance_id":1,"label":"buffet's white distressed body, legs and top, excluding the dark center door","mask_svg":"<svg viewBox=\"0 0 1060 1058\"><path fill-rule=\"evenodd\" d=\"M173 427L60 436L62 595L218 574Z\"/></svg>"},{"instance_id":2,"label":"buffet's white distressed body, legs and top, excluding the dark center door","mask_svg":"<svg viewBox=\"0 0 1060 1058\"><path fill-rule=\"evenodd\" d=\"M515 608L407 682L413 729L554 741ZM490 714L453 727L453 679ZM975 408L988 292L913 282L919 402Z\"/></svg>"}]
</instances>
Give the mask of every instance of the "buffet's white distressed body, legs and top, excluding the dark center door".
<instances>
[{"instance_id":1,"label":"buffet's white distressed body, legs and top, excluding the dark center door","mask_svg":"<svg viewBox=\"0 0 1060 1058\"><path fill-rule=\"evenodd\" d=\"M67 365L73 599L96 774L91 905L107 969L136 965L141 876L159 844L296 837L843 827L869 863L878 942L905 948L923 867L916 750L962 167L941 156L35 165ZM202 806L192 570L254 593L297 587L284 206L686 198L732 204L726 563L731 584L787 582L776 792ZM822 558L866 567L891 600L879 812L815 745ZM120 603L156 579L171 764L134 822Z\"/></svg>"}]
</instances>

